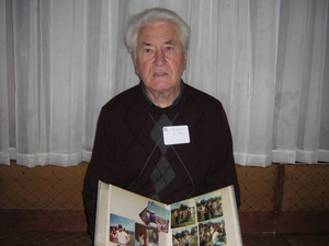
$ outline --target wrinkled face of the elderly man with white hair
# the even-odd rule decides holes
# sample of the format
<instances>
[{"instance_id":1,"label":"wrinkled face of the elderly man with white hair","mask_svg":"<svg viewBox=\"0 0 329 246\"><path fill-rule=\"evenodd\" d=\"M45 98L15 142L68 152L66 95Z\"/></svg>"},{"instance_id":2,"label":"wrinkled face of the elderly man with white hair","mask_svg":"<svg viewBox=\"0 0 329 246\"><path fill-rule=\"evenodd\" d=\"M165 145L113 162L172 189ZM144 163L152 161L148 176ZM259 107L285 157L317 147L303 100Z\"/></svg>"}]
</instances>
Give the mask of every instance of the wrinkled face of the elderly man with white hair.
<instances>
[{"instance_id":1,"label":"wrinkled face of the elderly man with white hair","mask_svg":"<svg viewBox=\"0 0 329 246\"><path fill-rule=\"evenodd\" d=\"M133 56L133 60L136 74L146 89L164 92L179 87L186 58L188 52L183 51L173 24L156 22L139 30L136 57Z\"/></svg>"}]
</instances>

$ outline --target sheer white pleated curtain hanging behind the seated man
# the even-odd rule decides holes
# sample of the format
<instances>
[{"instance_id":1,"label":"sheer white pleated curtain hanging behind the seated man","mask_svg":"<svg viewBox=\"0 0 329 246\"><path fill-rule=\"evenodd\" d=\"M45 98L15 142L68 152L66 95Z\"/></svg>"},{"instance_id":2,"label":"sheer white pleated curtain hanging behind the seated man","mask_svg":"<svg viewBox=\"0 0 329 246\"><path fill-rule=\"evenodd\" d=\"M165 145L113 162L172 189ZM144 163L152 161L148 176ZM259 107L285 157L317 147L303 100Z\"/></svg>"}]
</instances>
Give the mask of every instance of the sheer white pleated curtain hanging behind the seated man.
<instances>
[{"instance_id":1,"label":"sheer white pleated curtain hanging behind the seated man","mask_svg":"<svg viewBox=\"0 0 329 246\"><path fill-rule=\"evenodd\" d=\"M0 163L90 160L101 106L139 82L128 16L154 7L191 26L183 80L223 103L237 164L329 162L327 0L0 0Z\"/></svg>"}]
</instances>

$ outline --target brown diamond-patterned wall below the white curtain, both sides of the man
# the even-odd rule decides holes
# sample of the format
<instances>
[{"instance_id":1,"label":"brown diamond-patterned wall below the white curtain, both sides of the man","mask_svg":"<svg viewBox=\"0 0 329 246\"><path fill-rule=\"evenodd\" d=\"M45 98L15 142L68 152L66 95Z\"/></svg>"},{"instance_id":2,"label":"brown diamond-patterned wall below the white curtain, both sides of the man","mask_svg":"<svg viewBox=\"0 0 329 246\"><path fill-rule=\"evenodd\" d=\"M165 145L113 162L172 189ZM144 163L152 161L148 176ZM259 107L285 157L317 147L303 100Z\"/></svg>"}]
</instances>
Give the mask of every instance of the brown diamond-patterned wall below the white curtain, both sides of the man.
<instances>
[{"instance_id":1,"label":"brown diamond-patterned wall below the white curtain, both sides of the man","mask_svg":"<svg viewBox=\"0 0 329 246\"><path fill-rule=\"evenodd\" d=\"M0 230L86 231L87 167L0 165ZM242 232L329 232L329 165L237 165L237 172Z\"/></svg>"}]
</instances>

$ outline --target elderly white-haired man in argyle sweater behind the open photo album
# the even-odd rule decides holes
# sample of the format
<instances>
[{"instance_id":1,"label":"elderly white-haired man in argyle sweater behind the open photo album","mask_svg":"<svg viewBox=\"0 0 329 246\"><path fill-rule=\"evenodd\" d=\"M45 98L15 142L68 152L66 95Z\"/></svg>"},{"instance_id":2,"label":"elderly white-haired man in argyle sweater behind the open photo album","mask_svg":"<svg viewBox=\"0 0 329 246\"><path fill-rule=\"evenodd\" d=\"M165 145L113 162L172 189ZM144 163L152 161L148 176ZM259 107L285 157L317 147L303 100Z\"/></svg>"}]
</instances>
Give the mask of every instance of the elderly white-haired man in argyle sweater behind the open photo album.
<instances>
[{"instance_id":1,"label":"elderly white-haired man in argyle sweater behind the open photo album","mask_svg":"<svg viewBox=\"0 0 329 246\"><path fill-rule=\"evenodd\" d=\"M220 102L185 84L190 28L174 12L132 17L125 36L140 83L101 110L83 199L93 236L98 180L166 203L239 186Z\"/></svg>"}]
</instances>

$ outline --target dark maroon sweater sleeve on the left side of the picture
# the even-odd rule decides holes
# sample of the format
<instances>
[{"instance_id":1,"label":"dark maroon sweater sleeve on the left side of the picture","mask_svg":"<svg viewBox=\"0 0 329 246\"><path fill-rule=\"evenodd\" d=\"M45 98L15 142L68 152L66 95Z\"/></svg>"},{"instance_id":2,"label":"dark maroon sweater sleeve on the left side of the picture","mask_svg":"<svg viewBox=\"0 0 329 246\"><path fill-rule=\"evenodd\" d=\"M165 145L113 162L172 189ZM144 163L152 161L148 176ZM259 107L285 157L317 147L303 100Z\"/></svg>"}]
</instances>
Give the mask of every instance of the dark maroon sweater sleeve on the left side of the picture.
<instances>
[{"instance_id":1,"label":"dark maroon sweater sleeve on the left side of the picture","mask_svg":"<svg viewBox=\"0 0 329 246\"><path fill-rule=\"evenodd\" d=\"M83 186L83 203L88 221L88 232L94 238L95 210L99 180L113 183L113 154L110 147L109 116L104 108L98 119L91 161L86 172Z\"/></svg>"}]
</instances>

